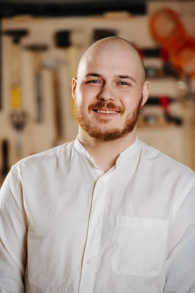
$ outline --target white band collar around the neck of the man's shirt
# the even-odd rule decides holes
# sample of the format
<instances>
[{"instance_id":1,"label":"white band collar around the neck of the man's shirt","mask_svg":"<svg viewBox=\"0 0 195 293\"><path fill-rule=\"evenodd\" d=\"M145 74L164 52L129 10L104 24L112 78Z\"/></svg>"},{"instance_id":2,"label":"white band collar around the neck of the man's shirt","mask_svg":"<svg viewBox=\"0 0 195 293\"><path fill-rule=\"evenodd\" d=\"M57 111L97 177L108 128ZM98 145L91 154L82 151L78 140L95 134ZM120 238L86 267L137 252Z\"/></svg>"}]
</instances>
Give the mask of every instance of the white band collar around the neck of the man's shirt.
<instances>
[{"instance_id":1,"label":"white band collar around the neck of the man's shirt","mask_svg":"<svg viewBox=\"0 0 195 293\"><path fill-rule=\"evenodd\" d=\"M131 146L128 146L125 150L123 150L119 154L119 156L117 158L116 165L118 165L120 162L122 162L126 158L130 157L131 155L133 155L140 148L140 146L141 146L140 141L136 137L135 142ZM78 135L77 135L76 140L74 142L74 147L76 148L76 150L78 151L79 154L81 154L84 157L87 157L91 162L93 162L95 164L94 158L88 153L88 151L84 148L84 146L81 145L81 143L78 139Z\"/></svg>"}]
</instances>

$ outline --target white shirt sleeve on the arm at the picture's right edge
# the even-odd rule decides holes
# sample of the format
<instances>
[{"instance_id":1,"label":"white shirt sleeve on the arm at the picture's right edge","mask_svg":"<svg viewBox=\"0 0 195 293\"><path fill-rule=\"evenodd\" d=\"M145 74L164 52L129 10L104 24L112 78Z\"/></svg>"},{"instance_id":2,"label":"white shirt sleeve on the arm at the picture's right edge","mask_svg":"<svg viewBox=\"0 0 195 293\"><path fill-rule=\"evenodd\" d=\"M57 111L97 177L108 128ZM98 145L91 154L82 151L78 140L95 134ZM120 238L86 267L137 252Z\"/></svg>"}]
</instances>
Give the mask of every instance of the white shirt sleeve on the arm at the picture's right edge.
<instances>
[{"instance_id":1,"label":"white shirt sleeve on the arm at the picture's right edge","mask_svg":"<svg viewBox=\"0 0 195 293\"><path fill-rule=\"evenodd\" d=\"M164 293L195 293L195 180L176 202Z\"/></svg>"}]
</instances>

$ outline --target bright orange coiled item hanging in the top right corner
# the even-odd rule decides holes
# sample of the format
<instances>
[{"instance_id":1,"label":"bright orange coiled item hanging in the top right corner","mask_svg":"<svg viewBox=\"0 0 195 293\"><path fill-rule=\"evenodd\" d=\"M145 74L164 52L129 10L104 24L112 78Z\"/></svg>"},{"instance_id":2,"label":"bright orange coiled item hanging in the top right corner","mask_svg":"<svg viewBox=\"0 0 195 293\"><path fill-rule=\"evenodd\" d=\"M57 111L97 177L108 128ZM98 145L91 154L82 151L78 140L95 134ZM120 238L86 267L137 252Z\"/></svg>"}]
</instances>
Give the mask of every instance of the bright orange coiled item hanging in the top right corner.
<instances>
[{"instance_id":1,"label":"bright orange coiled item hanging in the top right corner","mask_svg":"<svg viewBox=\"0 0 195 293\"><path fill-rule=\"evenodd\" d=\"M188 35L176 11L162 8L150 19L156 41L164 47L179 74L195 76L195 41Z\"/></svg>"}]
</instances>

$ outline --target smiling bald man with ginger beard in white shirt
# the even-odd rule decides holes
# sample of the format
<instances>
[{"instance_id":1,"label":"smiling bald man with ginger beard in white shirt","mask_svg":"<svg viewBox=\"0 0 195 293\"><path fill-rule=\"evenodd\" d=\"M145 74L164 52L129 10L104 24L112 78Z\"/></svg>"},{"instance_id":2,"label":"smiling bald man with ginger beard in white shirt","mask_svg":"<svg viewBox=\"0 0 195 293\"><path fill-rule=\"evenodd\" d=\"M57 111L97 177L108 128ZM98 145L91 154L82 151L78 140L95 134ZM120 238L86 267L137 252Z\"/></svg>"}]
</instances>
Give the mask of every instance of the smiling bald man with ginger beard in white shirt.
<instances>
[{"instance_id":1,"label":"smiling bald man with ginger beard in white shirt","mask_svg":"<svg viewBox=\"0 0 195 293\"><path fill-rule=\"evenodd\" d=\"M111 37L82 56L75 141L0 190L0 292L195 293L195 174L136 135L143 61Z\"/></svg>"}]
</instances>

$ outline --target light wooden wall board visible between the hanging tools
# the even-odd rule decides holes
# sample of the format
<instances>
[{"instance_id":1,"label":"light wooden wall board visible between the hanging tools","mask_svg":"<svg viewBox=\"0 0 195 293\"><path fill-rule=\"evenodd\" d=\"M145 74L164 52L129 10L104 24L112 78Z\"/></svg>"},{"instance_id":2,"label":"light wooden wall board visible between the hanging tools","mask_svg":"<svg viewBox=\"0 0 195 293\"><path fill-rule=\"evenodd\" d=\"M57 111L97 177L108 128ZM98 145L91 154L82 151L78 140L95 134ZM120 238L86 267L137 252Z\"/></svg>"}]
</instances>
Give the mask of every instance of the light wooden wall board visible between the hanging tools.
<instances>
[{"instance_id":1,"label":"light wooden wall board visible between the hanging tools","mask_svg":"<svg viewBox=\"0 0 195 293\"><path fill-rule=\"evenodd\" d=\"M157 8L168 6L174 8L180 15L188 32L195 37L195 3L192 1L149 1L148 13L145 16L131 16L127 13L107 14L104 17L60 18L60 19L33 19L30 17L4 19L3 30L11 28L25 28L29 35L21 43L21 81L22 81L22 108L30 114L30 122L22 134L22 157L41 152L54 146L55 117L54 117L54 86L51 70L42 68L42 89L44 115L43 122L36 122L36 91L34 79L34 59L32 52L24 46L30 43L46 43L49 50L41 54L42 63L58 59L62 65L58 70L61 110L63 112L64 142L74 140L78 133L78 124L72 112L70 71L73 64L70 61L70 51L55 46L54 34L59 30L71 30L80 34L81 40L75 42L77 47L76 64L78 64L84 50L93 42L93 31L97 28L115 29L117 35L139 47L153 48L157 43L151 36L149 17ZM2 38L2 109L0 110L0 142L8 139L10 144L9 165L18 161L16 130L11 126L8 116L11 111L10 101L10 68L12 62L12 41L8 36ZM145 59L145 64L162 66L159 58ZM182 126L164 125L152 127L138 127L140 140L162 150L174 159L195 169L194 156L194 125L195 107L187 106L182 99L185 89L179 89L175 78L151 79L151 96L170 95L178 99L171 105L170 111L183 119ZM193 83L195 88L195 81ZM145 109L150 111L151 109ZM162 115L160 107L153 107L152 111ZM63 143L63 141L61 141ZM0 158L0 166L2 158Z\"/></svg>"}]
</instances>

